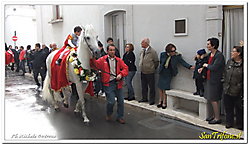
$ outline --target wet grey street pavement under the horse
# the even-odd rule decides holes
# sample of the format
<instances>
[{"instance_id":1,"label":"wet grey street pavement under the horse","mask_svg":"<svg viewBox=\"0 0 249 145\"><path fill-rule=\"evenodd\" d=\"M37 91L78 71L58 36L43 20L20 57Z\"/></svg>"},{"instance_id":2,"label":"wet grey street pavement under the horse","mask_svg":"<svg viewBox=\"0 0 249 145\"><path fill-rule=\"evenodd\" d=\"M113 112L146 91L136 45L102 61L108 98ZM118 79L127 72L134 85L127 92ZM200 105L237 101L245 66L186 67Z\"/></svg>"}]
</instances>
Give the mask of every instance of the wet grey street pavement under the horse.
<instances>
[{"instance_id":1,"label":"wet grey street pavement under the horse","mask_svg":"<svg viewBox=\"0 0 249 145\"><path fill-rule=\"evenodd\" d=\"M47 108L41 91L32 79L8 72L5 77L4 124L6 141L56 140L167 140L199 139L201 133L211 130L197 127L125 104L126 124L105 120L105 99L86 96L86 113L90 123L83 123L81 115L74 114L76 96L70 107L60 111Z\"/></svg>"}]
</instances>

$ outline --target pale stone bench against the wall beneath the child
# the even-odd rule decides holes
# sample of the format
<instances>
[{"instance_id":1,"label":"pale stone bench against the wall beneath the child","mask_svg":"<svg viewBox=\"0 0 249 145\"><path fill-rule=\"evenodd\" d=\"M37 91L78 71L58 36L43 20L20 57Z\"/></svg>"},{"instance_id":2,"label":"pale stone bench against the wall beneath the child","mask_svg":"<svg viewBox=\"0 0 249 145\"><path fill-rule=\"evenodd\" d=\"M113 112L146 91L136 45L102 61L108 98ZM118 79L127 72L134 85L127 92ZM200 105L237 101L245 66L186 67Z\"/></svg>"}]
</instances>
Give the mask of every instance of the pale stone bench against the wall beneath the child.
<instances>
[{"instance_id":1,"label":"pale stone bench against the wall beneath the child","mask_svg":"<svg viewBox=\"0 0 249 145\"><path fill-rule=\"evenodd\" d=\"M180 108L180 99L188 100L190 102L194 101L198 103L199 119L205 120L208 117L207 110L207 100L199 95L193 95L190 92L181 90L168 90L165 91L167 94L167 109L177 110Z\"/></svg>"}]
</instances>

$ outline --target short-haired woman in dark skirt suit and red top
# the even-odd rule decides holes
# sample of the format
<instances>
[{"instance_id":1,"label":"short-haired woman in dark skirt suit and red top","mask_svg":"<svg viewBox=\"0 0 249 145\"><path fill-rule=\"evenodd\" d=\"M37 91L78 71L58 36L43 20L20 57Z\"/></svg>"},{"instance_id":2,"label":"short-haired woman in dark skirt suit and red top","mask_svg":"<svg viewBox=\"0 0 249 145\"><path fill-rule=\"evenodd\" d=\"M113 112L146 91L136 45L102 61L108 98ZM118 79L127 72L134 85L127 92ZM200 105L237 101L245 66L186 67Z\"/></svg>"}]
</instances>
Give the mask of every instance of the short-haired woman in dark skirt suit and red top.
<instances>
[{"instance_id":1,"label":"short-haired woman in dark skirt suit and red top","mask_svg":"<svg viewBox=\"0 0 249 145\"><path fill-rule=\"evenodd\" d=\"M222 96L222 75L225 67L224 55L218 50L219 39L209 38L207 40L208 63L204 63L202 68L198 69L201 73L207 69L207 79L204 83L204 98L212 105L212 115L206 119L209 124L220 124L220 107L219 102Z\"/></svg>"}]
</instances>

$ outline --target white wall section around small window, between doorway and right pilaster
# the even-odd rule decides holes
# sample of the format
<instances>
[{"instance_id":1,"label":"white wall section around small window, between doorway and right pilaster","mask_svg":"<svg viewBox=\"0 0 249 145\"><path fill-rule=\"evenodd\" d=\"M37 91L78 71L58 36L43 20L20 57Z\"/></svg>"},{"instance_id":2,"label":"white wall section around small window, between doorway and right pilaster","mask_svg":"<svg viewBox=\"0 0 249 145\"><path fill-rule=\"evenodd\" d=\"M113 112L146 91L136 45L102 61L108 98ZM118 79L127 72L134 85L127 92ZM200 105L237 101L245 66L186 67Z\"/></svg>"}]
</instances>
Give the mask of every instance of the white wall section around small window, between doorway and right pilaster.
<instances>
[{"instance_id":1,"label":"white wall section around small window, between doorway and right pilaster","mask_svg":"<svg viewBox=\"0 0 249 145\"><path fill-rule=\"evenodd\" d=\"M156 49L158 57L165 50L165 46L171 42L190 64L194 64L193 57L196 51L199 48L205 48L207 39L205 5L135 5L133 15L136 54L141 50L140 42L144 37L151 39L151 46ZM173 24L174 19L177 18L188 19L187 36L174 36ZM171 87L193 92L195 86L192 71L179 66L179 73L172 80Z\"/></svg>"}]
</instances>

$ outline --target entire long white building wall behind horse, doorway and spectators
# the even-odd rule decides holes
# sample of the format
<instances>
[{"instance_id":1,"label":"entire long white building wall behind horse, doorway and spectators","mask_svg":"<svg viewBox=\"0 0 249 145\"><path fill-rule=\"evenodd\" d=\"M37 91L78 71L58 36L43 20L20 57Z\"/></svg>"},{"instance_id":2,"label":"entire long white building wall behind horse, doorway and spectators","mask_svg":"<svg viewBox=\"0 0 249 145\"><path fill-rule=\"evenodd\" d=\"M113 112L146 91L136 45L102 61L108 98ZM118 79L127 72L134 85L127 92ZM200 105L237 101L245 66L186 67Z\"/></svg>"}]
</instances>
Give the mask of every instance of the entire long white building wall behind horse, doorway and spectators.
<instances>
[{"instance_id":1,"label":"entire long white building wall behind horse, doorway and spectators","mask_svg":"<svg viewBox=\"0 0 249 145\"><path fill-rule=\"evenodd\" d=\"M209 8L207 5L62 5L63 22L48 24L52 19L52 6L42 5L42 23L38 29L43 37L39 41L49 44L57 42L61 47L65 37L76 25L93 24L99 39L105 43L104 16L115 11L126 11L127 42L135 45L136 64L139 62L140 42L144 37L151 39L151 46L156 49L158 57L166 44L172 42L177 51L190 64L199 48L206 48L210 36L221 32L222 9ZM175 37L173 34L174 19L188 19L188 35ZM38 31L38 35L41 35ZM221 38L221 37L220 37ZM221 40L221 39L220 39ZM156 76L158 79L158 75ZM141 96L140 71L134 78L136 95ZM156 84L157 86L157 84ZM172 80L172 88L193 92L195 90L192 71L179 66L178 75Z\"/></svg>"}]
</instances>

